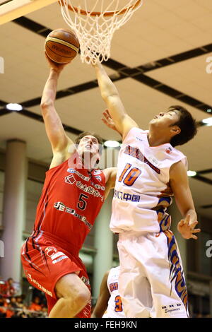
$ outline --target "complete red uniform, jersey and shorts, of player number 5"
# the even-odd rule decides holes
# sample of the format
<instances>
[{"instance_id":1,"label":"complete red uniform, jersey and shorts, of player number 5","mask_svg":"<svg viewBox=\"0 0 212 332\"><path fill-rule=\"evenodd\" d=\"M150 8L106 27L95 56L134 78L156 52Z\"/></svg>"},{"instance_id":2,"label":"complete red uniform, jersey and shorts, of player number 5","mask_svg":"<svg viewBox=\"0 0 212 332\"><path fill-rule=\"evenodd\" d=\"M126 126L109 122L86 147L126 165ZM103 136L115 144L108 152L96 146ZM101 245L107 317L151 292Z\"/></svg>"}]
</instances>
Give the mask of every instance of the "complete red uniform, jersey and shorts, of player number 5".
<instances>
[{"instance_id":1,"label":"complete red uniform, jersey and shorts, of player number 5","mask_svg":"<svg viewBox=\"0 0 212 332\"><path fill-rule=\"evenodd\" d=\"M78 273L90 290L86 267L78 257L105 201L105 175L69 166L69 160L47 171L37 206L33 234L23 244L21 260L28 281L45 292L48 311L58 297L59 278ZM90 317L90 302L78 317Z\"/></svg>"}]
</instances>

